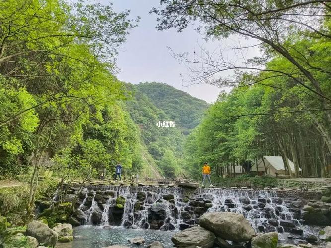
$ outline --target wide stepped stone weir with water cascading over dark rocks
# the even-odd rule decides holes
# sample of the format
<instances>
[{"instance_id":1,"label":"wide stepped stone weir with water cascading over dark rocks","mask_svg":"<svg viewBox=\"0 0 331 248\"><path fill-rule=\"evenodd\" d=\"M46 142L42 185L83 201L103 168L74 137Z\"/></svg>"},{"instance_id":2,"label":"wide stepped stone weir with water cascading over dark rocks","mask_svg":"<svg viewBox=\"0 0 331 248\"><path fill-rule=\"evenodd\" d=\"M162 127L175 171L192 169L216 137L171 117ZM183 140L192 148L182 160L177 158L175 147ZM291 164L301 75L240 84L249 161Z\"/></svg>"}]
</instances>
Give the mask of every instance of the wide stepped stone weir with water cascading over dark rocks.
<instances>
[{"instance_id":1,"label":"wide stepped stone weir with water cascading over dark rocks","mask_svg":"<svg viewBox=\"0 0 331 248\"><path fill-rule=\"evenodd\" d=\"M309 191L148 186L90 185L80 193L78 186L69 191L71 197L79 194L72 218L82 225L183 230L199 224L205 212L228 211L243 214L257 232L293 235L307 231L303 207L321 197ZM323 217L322 225L329 224Z\"/></svg>"}]
</instances>

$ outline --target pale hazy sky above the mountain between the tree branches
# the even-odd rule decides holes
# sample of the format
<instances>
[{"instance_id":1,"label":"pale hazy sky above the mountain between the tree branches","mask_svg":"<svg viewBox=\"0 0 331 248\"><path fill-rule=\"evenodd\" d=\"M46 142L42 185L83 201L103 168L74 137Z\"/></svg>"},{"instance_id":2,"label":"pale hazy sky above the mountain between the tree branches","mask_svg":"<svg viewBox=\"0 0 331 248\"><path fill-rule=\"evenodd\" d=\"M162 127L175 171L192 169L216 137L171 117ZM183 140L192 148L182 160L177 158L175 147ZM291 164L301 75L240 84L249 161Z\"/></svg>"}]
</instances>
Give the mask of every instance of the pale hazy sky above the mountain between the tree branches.
<instances>
[{"instance_id":1,"label":"pale hazy sky above the mountain between the tree branches","mask_svg":"<svg viewBox=\"0 0 331 248\"><path fill-rule=\"evenodd\" d=\"M102 4L108 4L109 0L99 0ZM208 103L215 102L222 90L209 84L188 83L187 75L190 73L185 65L179 64L173 58L169 48L175 53L193 53L200 50L202 45L206 50L214 50L220 41L206 42L202 34L197 33L192 26L178 33L175 29L157 31L155 14L148 12L152 7L159 7L159 0L112 0L115 11L129 9L130 19L140 16L138 27L130 30L127 41L119 50L117 66L120 72L117 77L121 81L137 84L140 82L167 83L190 95L203 99ZM235 38L236 39L236 38ZM224 42L224 41L222 41ZM234 39L228 39L225 43L231 44ZM230 56L231 51L229 52ZM181 76L183 75L183 76Z\"/></svg>"}]
</instances>

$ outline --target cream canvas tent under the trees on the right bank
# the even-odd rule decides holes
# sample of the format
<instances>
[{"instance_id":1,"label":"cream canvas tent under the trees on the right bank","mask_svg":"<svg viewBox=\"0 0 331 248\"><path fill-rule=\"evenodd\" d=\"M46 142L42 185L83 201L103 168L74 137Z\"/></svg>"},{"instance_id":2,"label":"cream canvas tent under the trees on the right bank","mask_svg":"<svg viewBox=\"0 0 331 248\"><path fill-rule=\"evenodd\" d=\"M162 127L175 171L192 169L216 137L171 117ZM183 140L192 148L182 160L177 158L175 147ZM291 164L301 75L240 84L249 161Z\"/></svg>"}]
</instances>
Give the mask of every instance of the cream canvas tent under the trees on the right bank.
<instances>
[{"instance_id":1,"label":"cream canvas tent under the trees on the right bank","mask_svg":"<svg viewBox=\"0 0 331 248\"><path fill-rule=\"evenodd\" d=\"M283 158L281 156L263 156L263 160L258 160L258 168L256 165L253 165L251 168L251 171L258 171L258 172L264 172L265 168L267 171L267 174L276 176L276 174L285 174L285 166L283 162ZM291 168L291 173L294 174L295 167L291 160L288 159L288 164ZM301 168L299 168L299 171L302 171Z\"/></svg>"}]
</instances>

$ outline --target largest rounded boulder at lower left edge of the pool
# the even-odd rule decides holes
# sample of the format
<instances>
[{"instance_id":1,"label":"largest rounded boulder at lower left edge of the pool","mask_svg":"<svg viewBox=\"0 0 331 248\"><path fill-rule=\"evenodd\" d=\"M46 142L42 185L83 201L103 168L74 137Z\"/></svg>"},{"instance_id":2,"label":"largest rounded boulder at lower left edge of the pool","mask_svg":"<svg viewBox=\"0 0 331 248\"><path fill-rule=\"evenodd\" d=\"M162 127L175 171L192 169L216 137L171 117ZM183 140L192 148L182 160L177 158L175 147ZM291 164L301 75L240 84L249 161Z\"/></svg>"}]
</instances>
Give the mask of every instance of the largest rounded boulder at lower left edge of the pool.
<instances>
[{"instance_id":1,"label":"largest rounded boulder at lower left edge of the pool","mask_svg":"<svg viewBox=\"0 0 331 248\"><path fill-rule=\"evenodd\" d=\"M39 243L47 246L55 246L58 235L48 226L39 221L31 221L26 229L26 235L36 238Z\"/></svg>"}]
</instances>

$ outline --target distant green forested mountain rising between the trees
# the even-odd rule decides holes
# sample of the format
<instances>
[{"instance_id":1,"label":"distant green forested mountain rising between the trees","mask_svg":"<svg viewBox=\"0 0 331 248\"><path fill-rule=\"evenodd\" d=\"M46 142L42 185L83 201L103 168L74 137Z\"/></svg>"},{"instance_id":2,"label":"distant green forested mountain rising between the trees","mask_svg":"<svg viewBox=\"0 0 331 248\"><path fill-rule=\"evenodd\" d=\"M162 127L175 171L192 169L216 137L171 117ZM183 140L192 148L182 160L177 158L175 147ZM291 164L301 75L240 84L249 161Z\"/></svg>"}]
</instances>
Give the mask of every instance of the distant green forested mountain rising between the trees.
<instances>
[{"instance_id":1,"label":"distant green forested mountain rising between the trees","mask_svg":"<svg viewBox=\"0 0 331 248\"><path fill-rule=\"evenodd\" d=\"M208 104L163 83L127 84L132 99L127 111L138 124L143 144L162 174L174 178L183 173L185 134L199 124ZM157 122L175 121L175 127Z\"/></svg>"}]
</instances>

